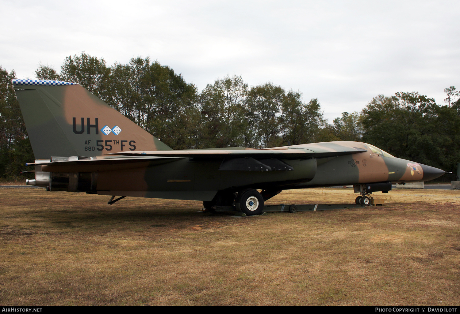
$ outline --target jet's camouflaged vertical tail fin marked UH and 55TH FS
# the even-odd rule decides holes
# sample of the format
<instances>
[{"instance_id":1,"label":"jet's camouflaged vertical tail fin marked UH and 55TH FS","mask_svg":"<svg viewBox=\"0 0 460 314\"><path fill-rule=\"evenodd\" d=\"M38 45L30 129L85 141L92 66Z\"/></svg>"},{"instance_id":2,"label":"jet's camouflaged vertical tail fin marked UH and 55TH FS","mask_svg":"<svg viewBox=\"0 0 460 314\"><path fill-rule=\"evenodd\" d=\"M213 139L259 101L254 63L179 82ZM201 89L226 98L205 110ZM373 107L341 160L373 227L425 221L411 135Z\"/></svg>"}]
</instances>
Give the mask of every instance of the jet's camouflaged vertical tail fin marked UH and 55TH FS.
<instances>
[{"instance_id":1,"label":"jet's camouflaged vertical tail fin marked UH and 55TH FS","mask_svg":"<svg viewBox=\"0 0 460 314\"><path fill-rule=\"evenodd\" d=\"M35 159L171 150L79 84L14 79Z\"/></svg>"}]
</instances>

